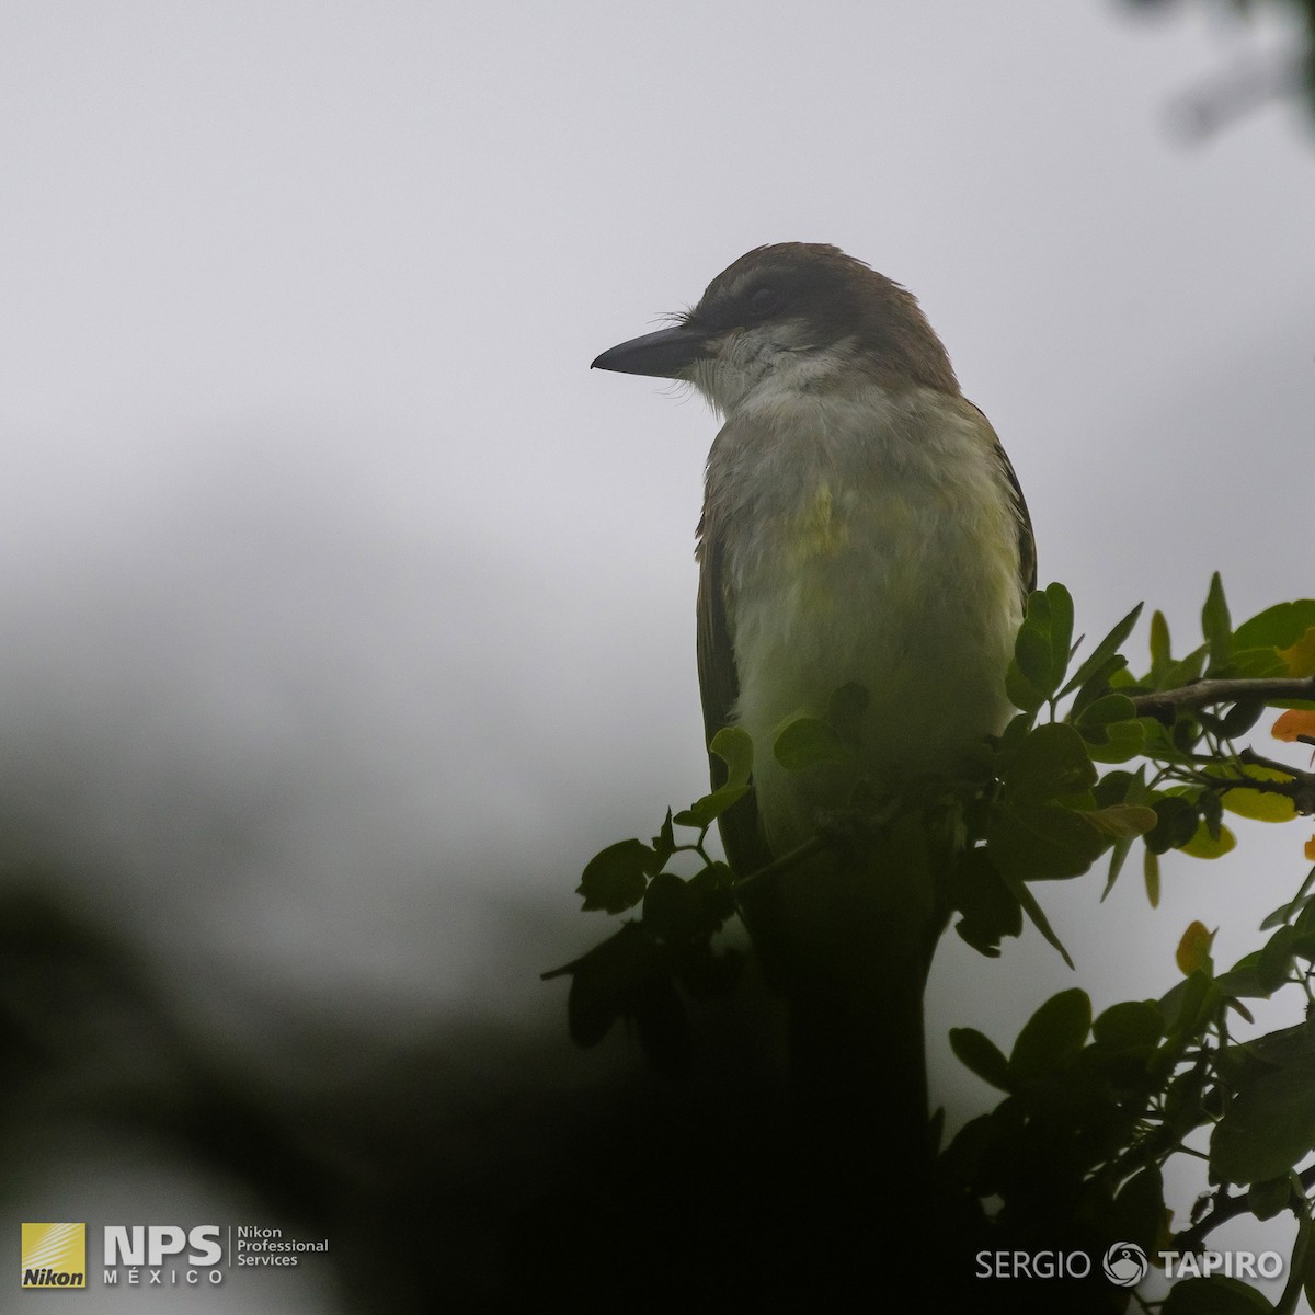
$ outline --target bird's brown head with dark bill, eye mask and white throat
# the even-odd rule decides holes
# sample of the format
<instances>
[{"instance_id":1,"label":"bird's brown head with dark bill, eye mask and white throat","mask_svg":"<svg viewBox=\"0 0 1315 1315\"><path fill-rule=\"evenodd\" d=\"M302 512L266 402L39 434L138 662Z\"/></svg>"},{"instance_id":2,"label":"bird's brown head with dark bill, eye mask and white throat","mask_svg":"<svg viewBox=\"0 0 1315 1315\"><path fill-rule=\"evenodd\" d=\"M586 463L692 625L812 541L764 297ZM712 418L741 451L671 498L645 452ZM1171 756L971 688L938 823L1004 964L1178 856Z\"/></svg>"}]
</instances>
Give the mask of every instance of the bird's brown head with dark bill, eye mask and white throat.
<instances>
[{"instance_id":1,"label":"bird's brown head with dark bill, eye mask and white throat","mask_svg":"<svg viewBox=\"0 0 1315 1315\"><path fill-rule=\"evenodd\" d=\"M914 296L817 242L742 255L671 327L611 347L593 366L684 380L723 413L763 385L877 383L959 393L945 348Z\"/></svg>"}]
</instances>

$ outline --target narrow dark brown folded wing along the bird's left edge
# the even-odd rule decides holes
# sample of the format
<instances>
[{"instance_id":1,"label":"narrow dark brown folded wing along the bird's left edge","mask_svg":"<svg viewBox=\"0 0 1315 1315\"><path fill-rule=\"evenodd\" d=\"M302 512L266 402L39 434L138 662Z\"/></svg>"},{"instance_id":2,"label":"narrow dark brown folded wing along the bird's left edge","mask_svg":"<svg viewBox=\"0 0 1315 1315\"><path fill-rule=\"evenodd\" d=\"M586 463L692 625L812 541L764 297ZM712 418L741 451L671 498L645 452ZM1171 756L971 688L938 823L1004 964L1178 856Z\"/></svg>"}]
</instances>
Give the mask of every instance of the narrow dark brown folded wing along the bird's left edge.
<instances>
[{"instance_id":1,"label":"narrow dark brown folded wing along the bird's left edge","mask_svg":"<svg viewBox=\"0 0 1315 1315\"><path fill-rule=\"evenodd\" d=\"M739 698L735 651L727 618L726 586L722 576L723 544L707 508L698 522L698 688L704 700L704 735L707 742L734 721ZM755 752L765 746L755 744ZM726 784L726 764L709 753L713 789ZM739 877L757 872L772 853L757 821L757 801L750 790L718 819L722 844L731 869Z\"/></svg>"}]
</instances>

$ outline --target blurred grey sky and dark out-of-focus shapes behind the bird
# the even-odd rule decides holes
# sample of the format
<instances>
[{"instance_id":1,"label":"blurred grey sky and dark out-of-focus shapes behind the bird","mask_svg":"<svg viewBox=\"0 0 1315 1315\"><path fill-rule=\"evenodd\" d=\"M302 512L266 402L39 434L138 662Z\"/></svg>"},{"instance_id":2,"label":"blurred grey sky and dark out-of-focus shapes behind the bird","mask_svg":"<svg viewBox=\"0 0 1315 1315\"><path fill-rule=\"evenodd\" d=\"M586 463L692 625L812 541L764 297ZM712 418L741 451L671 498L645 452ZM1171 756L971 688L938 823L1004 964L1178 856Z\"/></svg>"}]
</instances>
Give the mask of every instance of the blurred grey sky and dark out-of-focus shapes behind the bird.
<instances>
[{"instance_id":1,"label":"blurred grey sky and dark out-of-focus shapes behind the bird","mask_svg":"<svg viewBox=\"0 0 1315 1315\"><path fill-rule=\"evenodd\" d=\"M1299 49L1189 3L4 0L0 1272L20 1219L285 1220L331 1256L171 1308L473 1307L485 1219L669 1106L538 973L704 789L715 422L586 367L750 247L918 295L1089 635L1144 598L1191 648L1216 568L1235 621L1315 592L1311 114L1193 130ZM1240 830L1156 911L1041 892L1097 1009L1194 918L1258 944L1310 831ZM947 938L952 1123L945 1030L1073 981Z\"/></svg>"}]
</instances>

